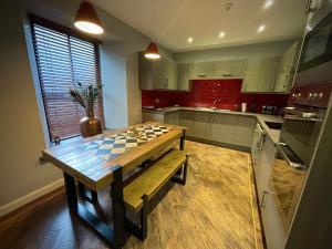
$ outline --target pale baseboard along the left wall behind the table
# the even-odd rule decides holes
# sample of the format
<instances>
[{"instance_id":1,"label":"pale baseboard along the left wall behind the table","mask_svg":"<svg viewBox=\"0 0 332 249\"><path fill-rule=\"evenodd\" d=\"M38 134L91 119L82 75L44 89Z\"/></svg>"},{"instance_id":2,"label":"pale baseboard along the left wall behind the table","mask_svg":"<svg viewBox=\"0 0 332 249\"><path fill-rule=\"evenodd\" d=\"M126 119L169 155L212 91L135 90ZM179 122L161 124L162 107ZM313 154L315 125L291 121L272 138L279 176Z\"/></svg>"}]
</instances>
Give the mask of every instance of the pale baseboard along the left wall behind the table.
<instances>
[{"instance_id":1,"label":"pale baseboard along the left wall behind the table","mask_svg":"<svg viewBox=\"0 0 332 249\"><path fill-rule=\"evenodd\" d=\"M9 204L0 206L0 217L17 210L18 208L40 198L41 196L44 196L44 195L55 190L56 188L62 187L63 185L64 185L63 179L59 179L52 184L49 184L49 185L46 185L42 188L39 188L32 193L29 193L25 196L14 199L14 200L10 201Z\"/></svg>"}]
</instances>

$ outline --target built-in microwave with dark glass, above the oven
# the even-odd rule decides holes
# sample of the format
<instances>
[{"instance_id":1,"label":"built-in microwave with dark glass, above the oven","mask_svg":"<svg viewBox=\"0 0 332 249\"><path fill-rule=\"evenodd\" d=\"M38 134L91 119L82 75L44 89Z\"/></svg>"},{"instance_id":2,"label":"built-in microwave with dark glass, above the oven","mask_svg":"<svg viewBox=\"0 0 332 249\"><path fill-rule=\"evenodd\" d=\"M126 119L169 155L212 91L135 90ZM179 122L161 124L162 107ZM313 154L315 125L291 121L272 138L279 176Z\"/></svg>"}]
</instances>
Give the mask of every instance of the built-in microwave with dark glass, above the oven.
<instances>
[{"instance_id":1,"label":"built-in microwave with dark glass, above the oven","mask_svg":"<svg viewBox=\"0 0 332 249\"><path fill-rule=\"evenodd\" d=\"M332 80L332 1L308 22L295 85Z\"/></svg>"}]
</instances>

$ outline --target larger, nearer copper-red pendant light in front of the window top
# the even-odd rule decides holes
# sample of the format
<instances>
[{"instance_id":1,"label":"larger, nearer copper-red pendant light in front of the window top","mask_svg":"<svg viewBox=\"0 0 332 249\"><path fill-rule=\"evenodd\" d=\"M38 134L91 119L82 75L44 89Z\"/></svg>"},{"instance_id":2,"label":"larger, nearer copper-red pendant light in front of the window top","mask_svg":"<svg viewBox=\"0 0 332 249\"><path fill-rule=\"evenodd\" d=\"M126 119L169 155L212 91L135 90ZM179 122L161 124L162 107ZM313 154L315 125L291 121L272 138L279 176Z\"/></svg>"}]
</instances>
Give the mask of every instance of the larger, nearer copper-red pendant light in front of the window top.
<instances>
[{"instance_id":1,"label":"larger, nearer copper-red pendant light in front of the window top","mask_svg":"<svg viewBox=\"0 0 332 249\"><path fill-rule=\"evenodd\" d=\"M89 1L83 1L79 7L74 24L86 33L101 34L104 32L101 20Z\"/></svg>"}]
</instances>

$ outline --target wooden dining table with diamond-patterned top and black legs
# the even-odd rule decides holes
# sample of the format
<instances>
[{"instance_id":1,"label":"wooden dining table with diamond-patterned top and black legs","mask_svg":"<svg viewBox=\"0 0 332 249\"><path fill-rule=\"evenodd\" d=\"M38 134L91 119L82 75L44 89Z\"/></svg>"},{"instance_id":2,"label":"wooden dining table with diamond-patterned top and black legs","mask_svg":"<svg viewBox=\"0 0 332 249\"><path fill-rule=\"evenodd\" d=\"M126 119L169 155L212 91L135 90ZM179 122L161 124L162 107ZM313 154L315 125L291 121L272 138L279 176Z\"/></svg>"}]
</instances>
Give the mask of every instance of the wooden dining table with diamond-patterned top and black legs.
<instances>
[{"instance_id":1,"label":"wooden dining table with diamond-patterned top and black legs","mask_svg":"<svg viewBox=\"0 0 332 249\"><path fill-rule=\"evenodd\" d=\"M134 133L133 133L134 131ZM147 122L42 151L42 157L63 172L68 206L112 247L125 245L124 175L175 142L185 146L186 127ZM92 191L111 186L113 224L101 220L79 204L76 184Z\"/></svg>"}]
</instances>

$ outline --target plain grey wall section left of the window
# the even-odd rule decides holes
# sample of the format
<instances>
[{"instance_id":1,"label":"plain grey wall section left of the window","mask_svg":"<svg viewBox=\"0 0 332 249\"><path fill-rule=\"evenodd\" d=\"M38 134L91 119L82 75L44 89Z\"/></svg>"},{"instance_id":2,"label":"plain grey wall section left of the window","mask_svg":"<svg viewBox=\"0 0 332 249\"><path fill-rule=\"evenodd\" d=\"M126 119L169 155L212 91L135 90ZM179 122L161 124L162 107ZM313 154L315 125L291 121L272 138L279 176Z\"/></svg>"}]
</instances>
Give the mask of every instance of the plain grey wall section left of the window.
<instances>
[{"instance_id":1,"label":"plain grey wall section left of the window","mask_svg":"<svg viewBox=\"0 0 332 249\"><path fill-rule=\"evenodd\" d=\"M61 172L40 165L46 144L33 87L17 1L1 3L0 15L0 206L59 179Z\"/></svg>"}]
</instances>

